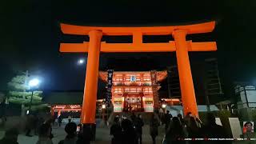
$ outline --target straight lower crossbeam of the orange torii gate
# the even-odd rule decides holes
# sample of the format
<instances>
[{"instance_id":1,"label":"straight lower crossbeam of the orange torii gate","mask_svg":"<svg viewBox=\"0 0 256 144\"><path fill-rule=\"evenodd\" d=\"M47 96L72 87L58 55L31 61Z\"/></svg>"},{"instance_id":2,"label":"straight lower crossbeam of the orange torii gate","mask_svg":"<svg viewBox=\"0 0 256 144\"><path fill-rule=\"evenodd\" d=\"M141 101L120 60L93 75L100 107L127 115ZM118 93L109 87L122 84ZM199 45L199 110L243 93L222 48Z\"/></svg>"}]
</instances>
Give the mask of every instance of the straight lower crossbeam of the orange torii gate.
<instances>
[{"instance_id":1,"label":"straight lower crossbeam of the orange torii gate","mask_svg":"<svg viewBox=\"0 0 256 144\"><path fill-rule=\"evenodd\" d=\"M188 41L189 51L214 51L217 50L216 42L191 42ZM106 43L102 42L102 53L138 53L138 52L173 52L175 43ZM87 53L88 42L61 43L62 53Z\"/></svg>"}]
</instances>

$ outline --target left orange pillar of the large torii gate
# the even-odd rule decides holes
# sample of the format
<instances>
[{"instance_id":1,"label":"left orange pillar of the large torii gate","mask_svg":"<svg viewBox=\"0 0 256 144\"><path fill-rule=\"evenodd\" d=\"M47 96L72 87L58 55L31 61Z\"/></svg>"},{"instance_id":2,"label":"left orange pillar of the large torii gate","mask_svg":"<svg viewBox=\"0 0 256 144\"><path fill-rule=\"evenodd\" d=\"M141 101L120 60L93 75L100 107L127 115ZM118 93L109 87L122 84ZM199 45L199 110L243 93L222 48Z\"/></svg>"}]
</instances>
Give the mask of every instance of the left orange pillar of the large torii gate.
<instances>
[{"instance_id":1,"label":"left orange pillar of the large torii gate","mask_svg":"<svg viewBox=\"0 0 256 144\"><path fill-rule=\"evenodd\" d=\"M86 66L86 82L82 101L81 122L95 124L95 111L98 90L98 65L102 31L91 30Z\"/></svg>"}]
</instances>

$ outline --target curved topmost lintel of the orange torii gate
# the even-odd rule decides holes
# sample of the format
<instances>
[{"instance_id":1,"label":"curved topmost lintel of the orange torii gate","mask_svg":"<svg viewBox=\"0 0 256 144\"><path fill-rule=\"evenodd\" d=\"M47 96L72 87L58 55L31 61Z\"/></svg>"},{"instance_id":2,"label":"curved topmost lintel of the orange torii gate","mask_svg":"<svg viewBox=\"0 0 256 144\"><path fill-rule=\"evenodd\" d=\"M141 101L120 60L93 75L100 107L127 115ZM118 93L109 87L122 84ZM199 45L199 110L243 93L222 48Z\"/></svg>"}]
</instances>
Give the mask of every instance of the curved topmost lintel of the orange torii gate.
<instances>
[{"instance_id":1,"label":"curved topmost lintel of the orange torii gate","mask_svg":"<svg viewBox=\"0 0 256 144\"><path fill-rule=\"evenodd\" d=\"M174 30L186 30L186 34L208 33L214 30L215 22L204 22L182 26L144 26L144 27L103 27L103 26L75 26L61 23L64 34L88 35L90 30L101 30L103 35L133 35L134 32L143 35L166 35Z\"/></svg>"}]
</instances>

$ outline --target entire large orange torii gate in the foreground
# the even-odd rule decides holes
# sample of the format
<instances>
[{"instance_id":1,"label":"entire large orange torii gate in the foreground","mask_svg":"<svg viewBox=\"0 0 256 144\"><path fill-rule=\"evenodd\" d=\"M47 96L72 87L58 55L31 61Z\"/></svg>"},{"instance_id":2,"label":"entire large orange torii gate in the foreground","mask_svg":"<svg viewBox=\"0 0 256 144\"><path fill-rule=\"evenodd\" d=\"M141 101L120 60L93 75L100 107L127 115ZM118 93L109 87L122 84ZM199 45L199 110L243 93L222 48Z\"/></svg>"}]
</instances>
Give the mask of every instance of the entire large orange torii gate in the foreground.
<instances>
[{"instance_id":1,"label":"entire large orange torii gate in the foreground","mask_svg":"<svg viewBox=\"0 0 256 144\"><path fill-rule=\"evenodd\" d=\"M90 42L61 43L61 52L88 53L86 83L82 102L81 122L95 123L96 99L98 90L99 54L126 52L172 52L176 51L178 74L182 91L183 112L198 115L194 84L190 70L189 51L217 50L216 42L186 41L187 34L201 34L214 30L215 22L203 22L184 26L152 27L97 27L61 24L64 34L89 35ZM143 35L172 35L174 41L143 43ZM132 43L101 42L102 35L132 35Z\"/></svg>"}]
</instances>

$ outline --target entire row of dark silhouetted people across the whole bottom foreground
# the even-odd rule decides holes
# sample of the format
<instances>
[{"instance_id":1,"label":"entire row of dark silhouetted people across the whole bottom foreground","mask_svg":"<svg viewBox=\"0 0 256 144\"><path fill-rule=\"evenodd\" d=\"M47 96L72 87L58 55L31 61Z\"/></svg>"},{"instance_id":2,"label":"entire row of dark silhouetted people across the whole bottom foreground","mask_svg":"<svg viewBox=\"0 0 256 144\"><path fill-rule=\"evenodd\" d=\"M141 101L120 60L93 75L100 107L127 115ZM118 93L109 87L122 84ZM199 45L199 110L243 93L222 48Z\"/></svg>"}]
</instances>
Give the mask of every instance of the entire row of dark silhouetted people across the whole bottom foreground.
<instances>
[{"instance_id":1,"label":"entire row of dark silhouetted people across the whole bottom foreground","mask_svg":"<svg viewBox=\"0 0 256 144\"><path fill-rule=\"evenodd\" d=\"M31 121L30 118L36 119ZM53 144L52 138L52 126L54 118L42 121L37 118L33 118L28 115L28 122L34 126L33 122L40 123L38 126L38 142L36 144ZM185 138L229 138L226 134L226 130L222 126L219 126L215 122L214 114L209 113L206 117L206 123L203 123L197 116L194 116L190 112L183 118L182 114L178 114L177 117L173 117L167 110L166 114L162 118L159 115L153 113L150 116L150 136L152 143L156 143L156 137L158 136L158 126L165 125L166 134L162 141L163 144L172 143L200 143L199 141L182 141ZM125 115L120 117L116 115L114 122L110 126L110 135L112 135L112 144L142 144L142 127L144 121L141 114L131 114L130 118ZM255 138L255 134L252 132L253 124L246 122L246 131L242 134L242 138ZM26 135L30 134L31 129L26 127ZM92 134L89 134L85 127L82 125L77 126L74 122L69 122L65 127L66 138L58 142L58 144L89 144L92 140ZM91 133L91 131L90 131ZM214 142L214 141L213 141ZM0 143L18 144L18 130L10 129L6 131L5 137L0 140ZM210 143L210 142L208 142ZM229 142L226 142L229 143Z\"/></svg>"}]
</instances>

